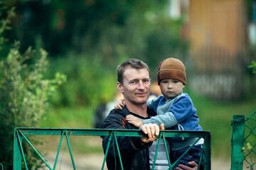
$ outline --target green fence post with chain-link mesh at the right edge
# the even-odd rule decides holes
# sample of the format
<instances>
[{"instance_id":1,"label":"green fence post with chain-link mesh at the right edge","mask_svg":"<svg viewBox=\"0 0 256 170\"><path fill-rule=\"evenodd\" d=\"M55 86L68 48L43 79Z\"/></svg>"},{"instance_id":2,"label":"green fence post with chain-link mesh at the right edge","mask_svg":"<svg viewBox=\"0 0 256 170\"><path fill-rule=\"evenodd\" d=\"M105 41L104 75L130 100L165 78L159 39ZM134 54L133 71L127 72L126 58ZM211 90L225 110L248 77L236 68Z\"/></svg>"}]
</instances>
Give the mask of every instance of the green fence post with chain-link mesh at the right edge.
<instances>
[{"instance_id":1,"label":"green fence post with chain-link mesh at the right edge","mask_svg":"<svg viewBox=\"0 0 256 170\"><path fill-rule=\"evenodd\" d=\"M231 125L233 134L231 139L232 155L231 170L243 168L243 162L247 169L256 169L256 111L245 117L244 115L233 115Z\"/></svg>"}]
</instances>

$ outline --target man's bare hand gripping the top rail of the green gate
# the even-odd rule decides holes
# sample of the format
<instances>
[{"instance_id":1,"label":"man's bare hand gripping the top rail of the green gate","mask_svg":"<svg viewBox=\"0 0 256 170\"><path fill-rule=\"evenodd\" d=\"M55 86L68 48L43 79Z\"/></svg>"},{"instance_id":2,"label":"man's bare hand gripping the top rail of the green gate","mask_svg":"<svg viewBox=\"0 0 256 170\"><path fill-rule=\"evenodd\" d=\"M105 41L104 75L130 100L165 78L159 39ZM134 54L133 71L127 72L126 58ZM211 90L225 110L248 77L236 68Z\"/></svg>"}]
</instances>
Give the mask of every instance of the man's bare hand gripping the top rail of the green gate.
<instances>
[{"instance_id":1,"label":"man's bare hand gripping the top rail of the green gate","mask_svg":"<svg viewBox=\"0 0 256 170\"><path fill-rule=\"evenodd\" d=\"M159 128L159 125L156 125L156 123L149 123L141 125L139 129L148 135L147 137L141 137L142 142L148 143L157 139L156 136L159 135L159 130L164 130L164 124L161 124Z\"/></svg>"}]
</instances>

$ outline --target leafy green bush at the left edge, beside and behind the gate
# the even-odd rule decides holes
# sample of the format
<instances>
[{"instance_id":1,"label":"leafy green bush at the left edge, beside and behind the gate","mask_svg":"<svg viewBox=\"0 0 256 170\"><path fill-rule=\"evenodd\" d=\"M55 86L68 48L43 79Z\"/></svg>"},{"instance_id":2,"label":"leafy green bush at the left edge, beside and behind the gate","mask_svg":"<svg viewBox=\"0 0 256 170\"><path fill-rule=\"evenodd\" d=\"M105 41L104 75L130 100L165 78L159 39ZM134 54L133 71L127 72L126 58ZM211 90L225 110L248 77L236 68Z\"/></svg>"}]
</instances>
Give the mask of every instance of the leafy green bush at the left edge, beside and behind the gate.
<instances>
[{"instance_id":1,"label":"leafy green bush at the left edge, beside and behind the gate","mask_svg":"<svg viewBox=\"0 0 256 170\"><path fill-rule=\"evenodd\" d=\"M1 5L0 26L1 45L4 45L4 31L9 28L11 17L14 17L14 8ZM3 5L4 6L4 5ZM48 61L47 52L28 50L23 54L19 51L20 42L15 41L6 56L0 60L0 160L4 169L12 169L14 157L14 129L18 127L38 127L46 113L48 98L55 89L66 80L65 75L56 73L55 78L45 79ZM38 55L37 55L38 54ZM34 60L35 62L32 62ZM31 140L38 144L38 140ZM28 169L38 169L41 159L27 143L23 144Z\"/></svg>"}]
</instances>

